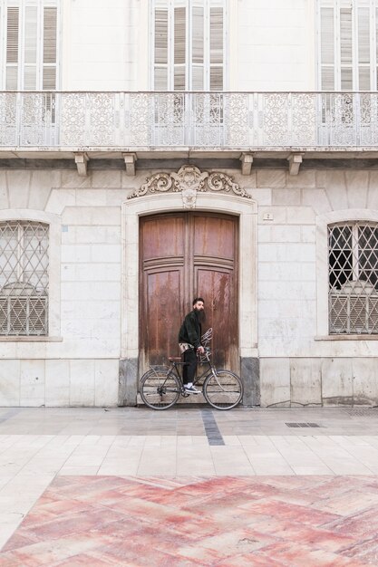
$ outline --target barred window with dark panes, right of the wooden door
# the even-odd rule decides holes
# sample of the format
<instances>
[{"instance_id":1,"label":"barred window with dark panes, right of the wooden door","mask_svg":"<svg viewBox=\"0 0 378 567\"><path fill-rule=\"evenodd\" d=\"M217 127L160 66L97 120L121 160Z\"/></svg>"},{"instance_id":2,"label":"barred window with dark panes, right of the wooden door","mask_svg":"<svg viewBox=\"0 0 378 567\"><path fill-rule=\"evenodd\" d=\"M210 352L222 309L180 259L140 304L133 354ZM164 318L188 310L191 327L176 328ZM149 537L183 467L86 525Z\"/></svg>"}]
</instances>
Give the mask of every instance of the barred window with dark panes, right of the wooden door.
<instances>
[{"instance_id":1,"label":"barred window with dark panes, right of the wooden door","mask_svg":"<svg viewBox=\"0 0 378 567\"><path fill-rule=\"evenodd\" d=\"M328 226L329 332L378 333L378 224Z\"/></svg>"}]
</instances>

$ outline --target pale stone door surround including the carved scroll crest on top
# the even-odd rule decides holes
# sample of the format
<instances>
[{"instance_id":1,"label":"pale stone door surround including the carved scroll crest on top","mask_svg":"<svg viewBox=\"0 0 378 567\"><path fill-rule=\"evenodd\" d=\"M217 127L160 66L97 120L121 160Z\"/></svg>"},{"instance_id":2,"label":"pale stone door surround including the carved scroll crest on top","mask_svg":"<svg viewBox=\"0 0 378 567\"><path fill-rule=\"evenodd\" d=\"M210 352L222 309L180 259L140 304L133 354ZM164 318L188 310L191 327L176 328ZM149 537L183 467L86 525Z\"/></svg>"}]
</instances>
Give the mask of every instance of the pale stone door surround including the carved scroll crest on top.
<instances>
[{"instance_id":1,"label":"pale stone door surround including the carved scroll crest on top","mask_svg":"<svg viewBox=\"0 0 378 567\"><path fill-rule=\"evenodd\" d=\"M238 337L246 405L258 403L257 353L257 206L247 191L223 172L183 166L160 172L136 189L122 205L122 316L120 405L135 405L139 344L140 216L196 209L239 217Z\"/></svg>"}]
</instances>

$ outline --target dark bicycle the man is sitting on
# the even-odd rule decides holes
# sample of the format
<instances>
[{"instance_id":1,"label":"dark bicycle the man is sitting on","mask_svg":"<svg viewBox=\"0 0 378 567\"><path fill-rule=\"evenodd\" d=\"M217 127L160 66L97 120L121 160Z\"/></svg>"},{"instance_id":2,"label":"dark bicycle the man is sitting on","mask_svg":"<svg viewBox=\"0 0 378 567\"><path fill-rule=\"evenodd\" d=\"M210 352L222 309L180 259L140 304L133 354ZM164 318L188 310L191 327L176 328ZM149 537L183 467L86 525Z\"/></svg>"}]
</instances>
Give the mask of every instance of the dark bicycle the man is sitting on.
<instances>
[{"instance_id":1,"label":"dark bicycle the man is sitting on","mask_svg":"<svg viewBox=\"0 0 378 567\"><path fill-rule=\"evenodd\" d=\"M202 344L211 339L211 329L202 337ZM216 409L235 408L243 398L243 384L230 370L218 370L210 360L211 351L205 346L199 361L207 368L196 378L194 385L202 385L202 393L210 406ZM141 377L141 399L152 409L168 409L179 396L187 398L180 369L186 362L179 357L169 357L170 366L154 366ZM203 380L203 381L202 381Z\"/></svg>"}]
</instances>

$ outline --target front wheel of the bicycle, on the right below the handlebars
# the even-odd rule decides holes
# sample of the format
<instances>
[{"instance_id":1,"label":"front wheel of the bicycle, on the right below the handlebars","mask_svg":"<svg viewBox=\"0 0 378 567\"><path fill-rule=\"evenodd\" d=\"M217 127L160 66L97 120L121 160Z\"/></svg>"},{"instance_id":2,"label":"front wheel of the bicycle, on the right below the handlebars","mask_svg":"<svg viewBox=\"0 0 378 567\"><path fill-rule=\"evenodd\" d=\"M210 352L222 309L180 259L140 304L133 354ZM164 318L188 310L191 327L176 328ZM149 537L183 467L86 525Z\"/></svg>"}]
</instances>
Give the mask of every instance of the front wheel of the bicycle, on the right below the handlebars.
<instances>
[{"instance_id":1,"label":"front wheel of the bicycle, on the right below the handlebars","mask_svg":"<svg viewBox=\"0 0 378 567\"><path fill-rule=\"evenodd\" d=\"M243 398L243 384L233 372L216 370L205 380L203 394L213 408L231 409Z\"/></svg>"}]
</instances>

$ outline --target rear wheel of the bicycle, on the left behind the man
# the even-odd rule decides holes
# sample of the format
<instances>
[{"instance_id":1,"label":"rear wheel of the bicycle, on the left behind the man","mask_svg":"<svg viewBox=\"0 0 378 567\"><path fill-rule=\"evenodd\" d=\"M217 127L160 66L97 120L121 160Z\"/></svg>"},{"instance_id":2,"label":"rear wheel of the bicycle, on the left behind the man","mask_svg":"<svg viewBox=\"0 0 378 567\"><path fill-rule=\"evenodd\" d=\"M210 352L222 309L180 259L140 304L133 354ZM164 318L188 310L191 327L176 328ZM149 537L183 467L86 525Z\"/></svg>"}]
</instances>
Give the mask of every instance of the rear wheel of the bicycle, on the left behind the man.
<instances>
[{"instance_id":1,"label":"rear wheel of the bicycle, on the left behind the man","mask_svg":"<svg viewBox=\"0 0 378 567\"><path fill-rule=\"evenodd\" d=\"M167 370L149 370L141 377L141 399L152 409L168 409L179 399L179 380Z\"/></svg>"}]
</instances>

